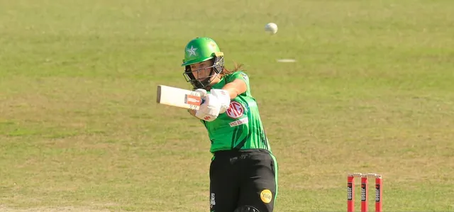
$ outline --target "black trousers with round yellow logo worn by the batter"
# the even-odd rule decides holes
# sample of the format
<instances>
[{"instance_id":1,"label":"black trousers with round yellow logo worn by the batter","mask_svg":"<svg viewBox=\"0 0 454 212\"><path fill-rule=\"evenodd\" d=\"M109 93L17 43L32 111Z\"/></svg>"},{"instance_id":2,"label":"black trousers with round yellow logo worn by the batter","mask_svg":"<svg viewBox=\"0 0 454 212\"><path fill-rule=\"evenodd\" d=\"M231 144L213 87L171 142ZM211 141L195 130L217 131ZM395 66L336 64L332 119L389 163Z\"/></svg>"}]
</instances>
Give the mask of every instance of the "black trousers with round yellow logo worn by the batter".
<instances>
[{"instance_id":1,"label":"black trousers with round yellow logo worn by the batter","mask_svg":"<svg viewBox=\"0 0 454 212\"><path fill-rule=\"evenodd\" d=\"M277 196L277 161L268 150L226 150L214 153L210 165L210 207L233 212L253 206L272 212Z\"/></svg>"}]
</instances>

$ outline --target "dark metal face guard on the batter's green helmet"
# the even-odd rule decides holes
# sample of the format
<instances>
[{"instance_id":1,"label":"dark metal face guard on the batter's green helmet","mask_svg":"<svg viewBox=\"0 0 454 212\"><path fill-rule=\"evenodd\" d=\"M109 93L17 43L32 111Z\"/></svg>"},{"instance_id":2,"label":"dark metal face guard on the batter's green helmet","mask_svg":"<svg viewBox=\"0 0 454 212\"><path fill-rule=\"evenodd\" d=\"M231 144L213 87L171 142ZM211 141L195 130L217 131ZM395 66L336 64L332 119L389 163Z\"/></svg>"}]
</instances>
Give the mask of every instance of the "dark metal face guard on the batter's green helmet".
<instances>
[{"instance_id":1,"label":"dark metal face guard on the batter's green helmet","mask_svg":"<svg viewBox=\"0 0 454 212\"><path fill-rule=\"evenodd\" d=\"M186 82L189 82L192 84L192 87L194 89L203 89L213 81L214 78L220 74L224 68L224 57L221 52L214 53L214 57L211 59L214 60L213 65L210 67L204 67L203 69L196 69L192 70L190 65L186 65L184 69L184 79L186 79ZM210 74L206 79L199 80L199 72L204 71L206 69L211 69ZM196 76L194 76L194 74Z\"/></svg>"}]
</instances>

